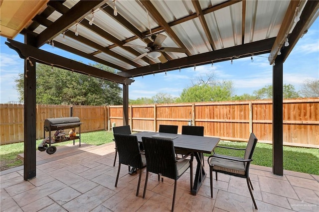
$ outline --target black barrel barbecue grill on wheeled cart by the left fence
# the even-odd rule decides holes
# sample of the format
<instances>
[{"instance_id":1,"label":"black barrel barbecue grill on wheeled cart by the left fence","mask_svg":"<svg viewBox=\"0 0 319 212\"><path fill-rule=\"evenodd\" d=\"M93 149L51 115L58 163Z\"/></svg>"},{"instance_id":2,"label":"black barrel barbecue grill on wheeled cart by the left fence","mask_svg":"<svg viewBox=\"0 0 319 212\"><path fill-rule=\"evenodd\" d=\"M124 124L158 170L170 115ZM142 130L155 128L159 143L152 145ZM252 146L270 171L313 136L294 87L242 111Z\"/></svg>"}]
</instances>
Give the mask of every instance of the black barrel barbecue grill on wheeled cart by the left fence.
<instances>
[{"instance_id":1,"label":"black barrel barbecue grill on wheeled cart by the left fence","mask_svg":"<svg viewBox=\"0 0 319 212\"><path fill-rule=\"evenodd\" d=\"M44 151L48 154L53 154L56 151L55 146L51 146L51 143L58 143L58 142L63 142L63 141L68 141L68 140L73 140L73 145L75 143L75 139L79 139L80 146L81 146L81 124L82 122L80 121L79 117L63 117L63 118L47 118L44 120L44 140L42 141L41 144L38 146L38 150ZM59 130L63 129L72 129L79 127L79 136L70 136L67 137L65 136L65 133L59 133ZM56 131L54 133L55 139L51 139L51 131ZM45 132L49 132L48 136L48 142L45 137ZM47 145L47 143L49 145Z\"/></svg>"}]
</instances>

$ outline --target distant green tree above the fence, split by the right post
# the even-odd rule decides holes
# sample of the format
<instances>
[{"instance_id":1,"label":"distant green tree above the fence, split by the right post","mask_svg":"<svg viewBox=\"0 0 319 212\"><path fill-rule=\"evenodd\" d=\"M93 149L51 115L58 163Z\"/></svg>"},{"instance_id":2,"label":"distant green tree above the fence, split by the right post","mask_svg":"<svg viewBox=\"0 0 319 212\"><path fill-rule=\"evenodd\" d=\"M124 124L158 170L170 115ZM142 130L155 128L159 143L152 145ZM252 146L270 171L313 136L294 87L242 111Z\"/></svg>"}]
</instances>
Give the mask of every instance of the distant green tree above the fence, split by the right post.
<instances>
[{"instance_id":1,"label":"distant green tree above the fence, split by the right post","mask_svg":"<svg viewBox=\"0 0 319 212\"><path fill-rule=\"evenodd\" d=\"M256 96L257 100L262 99L272 99L273 98L273 86L265 86L259 90L254 91L253 93ZM295 87L291 84L283 85L283 99L296 99L299 98L298 92L295 91Z\"/></svg>"}]
</instances>

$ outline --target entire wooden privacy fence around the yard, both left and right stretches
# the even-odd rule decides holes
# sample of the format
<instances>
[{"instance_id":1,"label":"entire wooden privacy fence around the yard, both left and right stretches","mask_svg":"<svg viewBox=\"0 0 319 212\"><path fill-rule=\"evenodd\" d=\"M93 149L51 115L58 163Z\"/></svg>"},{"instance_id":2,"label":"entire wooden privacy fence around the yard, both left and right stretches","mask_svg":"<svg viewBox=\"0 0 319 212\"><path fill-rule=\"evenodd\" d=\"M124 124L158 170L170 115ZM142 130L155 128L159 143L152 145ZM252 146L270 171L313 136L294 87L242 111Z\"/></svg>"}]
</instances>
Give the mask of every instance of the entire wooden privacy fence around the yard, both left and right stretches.
<instances>
[{"instance_id":1,"label":"entire wooden privacy fence around the yard, both left and right stretches","mask_svg":"<svg viewBox=\"0 0 319 212\"><path fill-rule=\"evenodd\" d=\"M107 130L110 124L123 125L123 106L52 106L36 108L36 137L43 138L46 118L73 116L81 132ZM0 144L23 141L23 105L0 104ZM158 131L160 124L204 126L206 136L247 141L254 132L259 142L272 143L272 101L211 102L129 106L133 131ZM284 100L283 140L285 145L319 148L319 98Z\"/></svg>"}]
</instances>

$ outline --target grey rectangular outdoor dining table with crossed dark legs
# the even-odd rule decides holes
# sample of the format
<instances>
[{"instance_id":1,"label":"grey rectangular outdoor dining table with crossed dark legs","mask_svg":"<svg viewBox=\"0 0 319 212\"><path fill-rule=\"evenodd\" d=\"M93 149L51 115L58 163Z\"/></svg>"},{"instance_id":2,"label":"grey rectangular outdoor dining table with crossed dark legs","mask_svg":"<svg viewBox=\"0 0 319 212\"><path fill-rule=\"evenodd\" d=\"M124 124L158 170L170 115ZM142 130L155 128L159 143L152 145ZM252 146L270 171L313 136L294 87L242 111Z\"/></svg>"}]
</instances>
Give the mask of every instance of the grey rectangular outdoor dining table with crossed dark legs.
<instances>
[{"instance_id":1,"label":"grey rectangular outdoor dining table with crossed dark legs","mask_svg":"<svg viewBox=\"0 0 319 212\"><path fill-rule=\"evenodd\" d=\"M206 172L203 168L203 157L201 155L203 153L211 154L214 148L217 146L218 142L220 141L220 138L148 131L138 132L134 135L137 136L139 142L142 142L142 137L172 139L175 148L182 149L188 152L193 152L197 161L197 167L191 194L197 194L202 182L206 177Z\"/></svg>"}]
</instances>

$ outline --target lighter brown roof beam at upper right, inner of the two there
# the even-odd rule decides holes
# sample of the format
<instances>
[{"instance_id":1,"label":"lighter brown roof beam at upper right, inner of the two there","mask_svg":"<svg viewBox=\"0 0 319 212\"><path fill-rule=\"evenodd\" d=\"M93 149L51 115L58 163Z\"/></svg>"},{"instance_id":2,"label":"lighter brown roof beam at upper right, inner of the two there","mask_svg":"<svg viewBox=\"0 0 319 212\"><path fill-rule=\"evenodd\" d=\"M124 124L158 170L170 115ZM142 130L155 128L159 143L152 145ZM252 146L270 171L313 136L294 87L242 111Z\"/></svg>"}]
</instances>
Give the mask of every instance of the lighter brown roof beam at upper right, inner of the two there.
<instances>
[{"instance_id":1,"label":"lighter brown roof beam at upper right, inner of the two there","mask_svg":"<svg viewBox=\"0 0 319 212\"><path fill-rule=\"evenodd\" d=\"M276 40L274 42L274 45L270 51L269 54L269 63L273 64L276 57L278 49L281 48L282 44L285 42L285 38L289 33L289 30L291 29L292 25L294 24L295 19L295 10L298 6L300 1L298 0L291 0L290 4L287 8L284 20L281 24L281 27L279 29L279 32L277 34Z\"/></svg>"}]
</instances>

